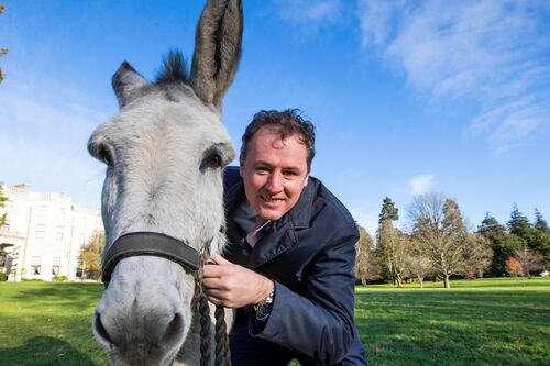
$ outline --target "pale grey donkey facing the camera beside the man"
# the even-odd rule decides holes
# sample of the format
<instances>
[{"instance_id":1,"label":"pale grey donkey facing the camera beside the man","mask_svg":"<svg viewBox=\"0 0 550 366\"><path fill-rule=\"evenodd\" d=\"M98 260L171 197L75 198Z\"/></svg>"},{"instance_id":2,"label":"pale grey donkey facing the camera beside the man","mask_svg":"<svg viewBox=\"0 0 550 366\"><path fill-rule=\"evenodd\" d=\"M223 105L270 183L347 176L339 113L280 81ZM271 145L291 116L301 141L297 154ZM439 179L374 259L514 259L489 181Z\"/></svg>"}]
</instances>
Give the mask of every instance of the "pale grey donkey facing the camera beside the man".
<instances>
[{"instance_id":1,"label":"pale grey donkey facing the camera beside the man","mask_svg":"<svg viewBox=\"0 0 550 366\"><path fill-rule=\"evenodd\" d=\"M194 253L205 245L212 254L223 248L222 175L235 153L221 108L239 65L242 22L241 0L209 0L189 74L172 52L156 82L125 62L113 75L120 111L88 143L107 165L103 270L106 253L121 239L125 249L139 252L122 253L103 274L108 287L92 320L95 339L113 365L199 365L189 270L197 258L186 267L163 248L153 252L157 243Z\"/></svg>"}]
</instances>

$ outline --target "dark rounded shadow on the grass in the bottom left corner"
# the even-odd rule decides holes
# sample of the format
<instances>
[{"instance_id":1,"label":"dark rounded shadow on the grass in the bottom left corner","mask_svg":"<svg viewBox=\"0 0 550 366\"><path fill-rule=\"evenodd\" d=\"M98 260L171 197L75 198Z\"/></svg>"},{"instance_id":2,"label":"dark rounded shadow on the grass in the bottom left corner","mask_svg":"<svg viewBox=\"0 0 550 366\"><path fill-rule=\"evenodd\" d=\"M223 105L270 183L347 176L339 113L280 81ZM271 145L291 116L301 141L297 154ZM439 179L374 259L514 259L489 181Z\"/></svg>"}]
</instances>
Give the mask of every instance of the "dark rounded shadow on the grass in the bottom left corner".
<instances>
[{"instance_id":1,"label":"dark rounded shadow on the grass in the bottom left corner","mask_svg":"<svg viewBox=\"0 0 550 366\"><path fill-rule=\"evenodd\" d=\"M22 346L0 348L2 366L79 365L95 366L91 358L69 343L50 336L35 336Z\"/></svg>"}]
</instances>

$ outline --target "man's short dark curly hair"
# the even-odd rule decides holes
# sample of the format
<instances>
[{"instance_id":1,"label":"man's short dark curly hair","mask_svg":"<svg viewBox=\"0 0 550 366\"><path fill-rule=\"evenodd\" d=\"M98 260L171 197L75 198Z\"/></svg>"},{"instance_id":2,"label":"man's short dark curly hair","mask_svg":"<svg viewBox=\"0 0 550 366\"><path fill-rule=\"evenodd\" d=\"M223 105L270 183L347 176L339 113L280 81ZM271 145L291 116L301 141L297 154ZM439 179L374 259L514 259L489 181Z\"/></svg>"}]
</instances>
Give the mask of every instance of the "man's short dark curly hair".
<instances>
[{"instance_id":1,"label":"man's short dark curly hair","mask_svg":"<svg viewBox=\"0 0 550 366\"><path fill-rule=\"evenodd\" d=\"M260 111L254 114L252 122L244 131L241 146L241 164L246 157L249 144L254 134L264 126L277 129L280 140L298 135L300 142L306 146L308 171L311 170L311 162L315 156L315 126L301 117L299 109L287 109L284 111Z\"/></svg>"}]
</instances>

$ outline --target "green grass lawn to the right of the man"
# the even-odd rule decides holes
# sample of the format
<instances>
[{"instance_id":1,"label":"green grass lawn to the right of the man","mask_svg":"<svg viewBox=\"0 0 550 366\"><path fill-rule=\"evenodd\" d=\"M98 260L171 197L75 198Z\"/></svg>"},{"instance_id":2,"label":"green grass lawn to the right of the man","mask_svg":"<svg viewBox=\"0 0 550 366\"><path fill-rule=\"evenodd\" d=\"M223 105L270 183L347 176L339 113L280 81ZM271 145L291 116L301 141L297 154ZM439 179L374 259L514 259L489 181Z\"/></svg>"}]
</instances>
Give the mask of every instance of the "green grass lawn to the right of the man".
<instances>
[{"instance_id":1,"label":"green grass lawn to the right of the man","mask_svg":"<svg viewBox=\"0 0 550 366\"><path fill-rule=\"evenodd\" d=\"M550 279L358 288L371 365L550 365Z\"/></svg>"}]
</instances>

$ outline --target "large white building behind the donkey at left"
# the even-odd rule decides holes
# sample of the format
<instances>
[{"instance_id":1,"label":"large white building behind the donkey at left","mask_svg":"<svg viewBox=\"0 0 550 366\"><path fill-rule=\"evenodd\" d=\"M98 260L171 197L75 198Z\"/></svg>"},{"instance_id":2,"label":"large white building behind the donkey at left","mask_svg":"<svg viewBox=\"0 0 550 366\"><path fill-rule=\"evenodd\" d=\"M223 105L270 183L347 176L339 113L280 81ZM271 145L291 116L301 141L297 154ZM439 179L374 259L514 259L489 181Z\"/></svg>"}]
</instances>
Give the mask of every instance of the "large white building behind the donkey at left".
<instances>
[{"instance_id":1,"label":"large white building behind the donkey at left","mask_svg":"<svg viewBox=\"0 0 550 366\"><path fill-rule=\"evenodd\" d=\"M103 230L100 212L75 204L65 193L30 191L24 184L3 185L2 195L8 200L0 215L8 217L0 229L0 270L8 279L79 279L79 251Z\"/></svg>"}]
</instances>

